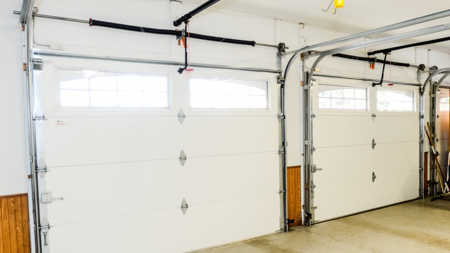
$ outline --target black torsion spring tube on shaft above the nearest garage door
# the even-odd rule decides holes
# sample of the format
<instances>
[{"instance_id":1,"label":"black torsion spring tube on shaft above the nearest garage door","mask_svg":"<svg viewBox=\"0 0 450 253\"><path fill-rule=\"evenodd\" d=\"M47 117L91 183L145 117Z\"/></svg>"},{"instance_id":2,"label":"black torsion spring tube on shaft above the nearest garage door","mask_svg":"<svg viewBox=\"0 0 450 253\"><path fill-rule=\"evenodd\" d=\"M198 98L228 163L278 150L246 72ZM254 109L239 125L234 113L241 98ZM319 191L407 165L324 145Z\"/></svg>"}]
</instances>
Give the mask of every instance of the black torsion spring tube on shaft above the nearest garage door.
<instances>
[{"instance_id":1,"label":"black torsion spring tube on shaft above the nearest garage door","mask_svg":"<svg viewBox=\"0 0 450 253\"><path fill-rule=\"evenodd\" d=\"M155 29L155 28L140 27L140 26L130 26L130 25L123 25L123 24L117 24L117 23L112 23L112 22L94 20L92 18L89 19L89 26L102 26L102 27L109 27L109 28L114 28L114 29L142 32L142 33L149 33L149 34L173 35L173 36L178 36L178 37L183 36L183 31ZM203 40L210 40L210 41L231 43L231 44L240 44L240 45L255 46L255 44L256 44L255 41L250 41L250 40L224 38L224 37L208 36L208 35L193 34L193 33L190 33L189 37L203 39Z\"/></svg>"}]
</instances>

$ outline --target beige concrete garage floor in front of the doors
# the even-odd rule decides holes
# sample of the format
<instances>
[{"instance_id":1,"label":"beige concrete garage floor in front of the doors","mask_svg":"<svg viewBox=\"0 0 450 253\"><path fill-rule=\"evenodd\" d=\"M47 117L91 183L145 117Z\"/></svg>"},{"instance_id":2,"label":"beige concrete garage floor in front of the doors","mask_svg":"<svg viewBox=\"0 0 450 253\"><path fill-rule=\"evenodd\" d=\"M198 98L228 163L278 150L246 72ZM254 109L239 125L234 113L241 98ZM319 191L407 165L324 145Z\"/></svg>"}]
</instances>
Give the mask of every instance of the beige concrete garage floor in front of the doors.
<instances>
[{"instance_id":1,"label":"beige concrete garage floor in front of the doors","mask_svg":"<svg viewBox=\"0 0 450 253\"><path fill-rule=\"evenodd\" d=\"M429 199L198 253L450 253L450 201Z\"/></svg>"}]
</instances>

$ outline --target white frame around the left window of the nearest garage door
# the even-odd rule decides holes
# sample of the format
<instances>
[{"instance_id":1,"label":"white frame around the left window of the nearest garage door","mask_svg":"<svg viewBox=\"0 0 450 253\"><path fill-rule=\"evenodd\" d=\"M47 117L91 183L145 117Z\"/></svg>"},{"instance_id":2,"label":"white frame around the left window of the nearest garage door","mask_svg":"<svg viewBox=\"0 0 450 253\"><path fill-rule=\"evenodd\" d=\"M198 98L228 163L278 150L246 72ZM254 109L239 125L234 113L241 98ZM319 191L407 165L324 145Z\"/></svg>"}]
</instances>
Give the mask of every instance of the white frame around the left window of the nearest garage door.
<instances>
[{"instance_id":1,"label":"white frame around the left window of the nearest garage door","mask_svg":"<svg viewBox=\"0 0 450 253\"><path fill-rule=\"evenodd\" d=\"M102 107L102 106L88 106L88 107L63 107L61 106L61 85L60 85L60 77L59 77L59 71L97 71L97 72L110 72L110 73L119 73L119 74L137 74L141 76L146 75L154 75L154 76L163 76L167 79L167 107L160 108L160 107ZM88 111L168 111L171 110L172 105L172 75L170 73L165 72L134 72L134 71L122 71L122 70L105 70L105 69L97 69L97 68L72 68L67 66L55 66L54 67L54 78L55 78L55 107L57 110L65 111L65 110L88 110ZM91 91L90 87L88 90L86 89L80 89L80 91ZM95 90L94 90L95 91ZM117 98L118 99L118 98Z\"/></svg>"}]
</instances>

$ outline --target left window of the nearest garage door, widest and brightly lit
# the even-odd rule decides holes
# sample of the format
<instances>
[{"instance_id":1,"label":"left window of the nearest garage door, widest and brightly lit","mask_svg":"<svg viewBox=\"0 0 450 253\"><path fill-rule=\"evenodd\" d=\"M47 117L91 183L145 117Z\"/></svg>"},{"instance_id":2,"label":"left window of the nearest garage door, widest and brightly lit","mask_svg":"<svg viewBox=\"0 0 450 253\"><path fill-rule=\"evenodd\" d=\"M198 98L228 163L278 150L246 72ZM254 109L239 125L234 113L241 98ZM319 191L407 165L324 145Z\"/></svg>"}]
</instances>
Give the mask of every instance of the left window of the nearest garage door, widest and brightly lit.
<instances>
[{"instance_id":1,"label":"left window of the nearest garage door, widest and brightly lit","mask_svg":"<svg viewBox=\"0 0 450 253\"><path fill-rule=\"evenodd\" d=\"M58 70L61 108L169 108L168 76Z\"/></svg>"}]
</instances>

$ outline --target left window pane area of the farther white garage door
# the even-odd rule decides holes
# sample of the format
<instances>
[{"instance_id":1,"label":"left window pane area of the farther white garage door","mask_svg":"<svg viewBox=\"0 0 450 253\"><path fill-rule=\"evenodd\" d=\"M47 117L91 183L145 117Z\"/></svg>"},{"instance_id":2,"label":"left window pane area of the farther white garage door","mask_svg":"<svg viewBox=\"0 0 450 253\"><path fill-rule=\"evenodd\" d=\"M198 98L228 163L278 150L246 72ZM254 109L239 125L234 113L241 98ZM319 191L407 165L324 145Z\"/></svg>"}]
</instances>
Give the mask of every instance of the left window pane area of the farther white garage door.
<instances>
[{"instance_id":1,"label":"left window pane area of the farther white garage door","mask_svg":"<svg viewBox=\"0 0 450 253\"><path fill-rule=\"evenodd\" d=\"M367 110L366 88L319 85L319 109Z\"/></svg>"}]
</instances>

